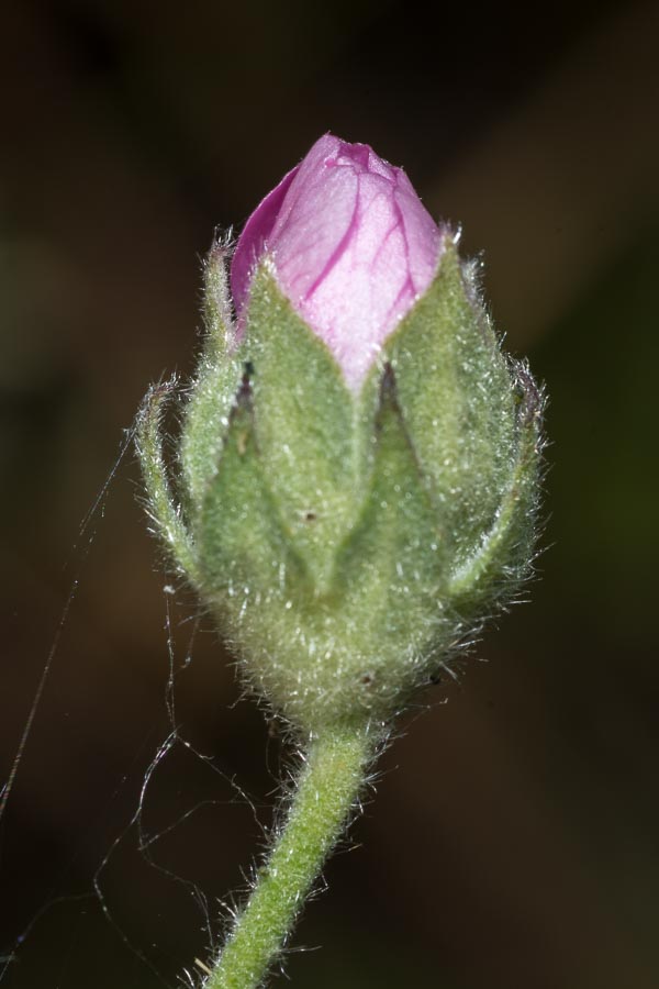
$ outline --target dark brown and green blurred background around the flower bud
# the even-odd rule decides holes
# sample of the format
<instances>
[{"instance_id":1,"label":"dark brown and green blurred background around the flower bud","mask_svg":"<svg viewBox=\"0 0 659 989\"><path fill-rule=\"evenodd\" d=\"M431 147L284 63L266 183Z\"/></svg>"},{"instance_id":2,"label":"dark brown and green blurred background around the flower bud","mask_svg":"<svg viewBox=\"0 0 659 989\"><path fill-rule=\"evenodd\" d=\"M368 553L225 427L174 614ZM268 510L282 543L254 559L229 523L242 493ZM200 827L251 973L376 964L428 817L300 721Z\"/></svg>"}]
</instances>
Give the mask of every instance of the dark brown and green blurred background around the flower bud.
<instances>
[{"instance_id":1,"label":"dark brown and green blurred background around the flower bud","mask_svg":"<svg viewBox=\"0 0 659 989\"><path fill-rule=\"evenodd\" d=\"M192 368L215 225L327 130L483 252L551 397L548 548L532 603L387 753L293 942L322 951L287 973L659 985L657 7L10 0L1 20L0 780L79 577L0 822L1 989L178 985L263 841L286 753L164 592L132 449L79 529L147 385ZM169 638L191 747L158 763L141 835Z\"/></svg>"}]
</instances>

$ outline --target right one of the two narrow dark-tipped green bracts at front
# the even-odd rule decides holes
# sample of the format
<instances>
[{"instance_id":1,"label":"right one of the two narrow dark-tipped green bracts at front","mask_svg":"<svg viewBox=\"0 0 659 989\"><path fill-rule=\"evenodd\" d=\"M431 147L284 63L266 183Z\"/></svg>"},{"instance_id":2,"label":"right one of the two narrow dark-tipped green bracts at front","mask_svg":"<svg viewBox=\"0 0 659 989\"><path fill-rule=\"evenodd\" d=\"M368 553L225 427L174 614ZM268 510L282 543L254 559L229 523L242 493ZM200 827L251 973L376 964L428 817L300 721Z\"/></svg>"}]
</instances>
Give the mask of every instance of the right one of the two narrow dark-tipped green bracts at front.
<instances>
[{"instance_id":1,"label":"right one of the two narrow dark-tipped green bracts at front","mask_svg":"<svg viewBox=\"0 0 659 989\"><path fill-rule=\"evenodd\" d=\"M424 676L442 638L446 533L433 480L418 460L393 369L380 379L371 473L359 518L334 571L336 611L349 638L354 690L387 716Z\"/></svg>"}]
</instances>

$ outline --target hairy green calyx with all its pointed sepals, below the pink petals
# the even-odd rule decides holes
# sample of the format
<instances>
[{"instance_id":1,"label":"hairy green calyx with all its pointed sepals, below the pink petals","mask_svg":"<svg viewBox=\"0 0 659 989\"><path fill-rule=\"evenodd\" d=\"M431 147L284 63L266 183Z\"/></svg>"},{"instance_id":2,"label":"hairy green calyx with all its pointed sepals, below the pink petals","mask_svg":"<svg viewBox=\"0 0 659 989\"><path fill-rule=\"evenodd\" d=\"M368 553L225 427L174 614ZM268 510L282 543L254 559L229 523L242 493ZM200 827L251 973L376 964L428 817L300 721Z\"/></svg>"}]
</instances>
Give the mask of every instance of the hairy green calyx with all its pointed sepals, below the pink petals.
<instances>
[{"instance_id":1,"label":"hairy green calyx with all its pointed sepals, below the pink petals","mask_svg":"<svg viewBox=\"0 0 659 989\"><path fill-rule=\"evenodd\" d=\"M533 379L502 353L450 240L358 396L267 263L227 346L211 274L182 512L150 430L153 516L278 712L306 734L389 721L528 575Z\"/></svg>"}]
</instances>

